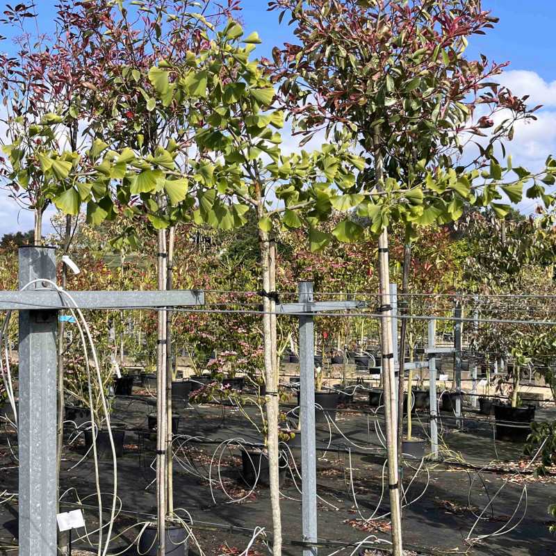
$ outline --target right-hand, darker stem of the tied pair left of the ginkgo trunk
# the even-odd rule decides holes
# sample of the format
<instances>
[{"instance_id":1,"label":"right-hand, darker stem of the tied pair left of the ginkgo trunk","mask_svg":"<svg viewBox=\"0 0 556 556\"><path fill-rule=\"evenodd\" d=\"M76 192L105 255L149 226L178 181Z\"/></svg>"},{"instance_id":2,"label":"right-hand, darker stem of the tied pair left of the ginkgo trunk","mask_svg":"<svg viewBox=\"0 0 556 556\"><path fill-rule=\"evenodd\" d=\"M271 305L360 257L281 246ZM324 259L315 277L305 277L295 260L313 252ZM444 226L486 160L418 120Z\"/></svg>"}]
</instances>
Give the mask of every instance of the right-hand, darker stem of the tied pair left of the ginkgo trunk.
<instances>
[{"instance_id":1,"label":"right-hand, darker stem of the tied pair left of the ginkgo trunk","mask_svg":"<svg viewBox=\"0 0 556 556\"><path fill-rule=\"evenodd\" d=\"M168 231L168 253L167 253L167 266L166 266L166 289L172 289L173 279L173 258L174 258L174 239L176 233L175 228L172 226ZM167 473L167 505L168 514L174 513L174 458L172 452L172 312L166 312L166 473Z\"/></svg>"}]
</instances>

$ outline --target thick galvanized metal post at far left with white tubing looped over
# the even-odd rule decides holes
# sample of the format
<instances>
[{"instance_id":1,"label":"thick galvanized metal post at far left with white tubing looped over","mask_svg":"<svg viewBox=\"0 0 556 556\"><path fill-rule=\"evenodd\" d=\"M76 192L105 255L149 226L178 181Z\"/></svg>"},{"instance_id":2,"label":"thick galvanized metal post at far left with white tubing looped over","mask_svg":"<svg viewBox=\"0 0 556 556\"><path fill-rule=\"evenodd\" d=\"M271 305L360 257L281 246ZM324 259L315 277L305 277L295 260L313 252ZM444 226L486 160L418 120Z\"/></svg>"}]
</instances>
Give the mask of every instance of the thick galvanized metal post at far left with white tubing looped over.
<instances>
[{"instance_id":1,"label":"thick galvanized metal post at far left with white tubing looped over","mask_svg":"<svg viewBox=\"0 0 556 556\"><path fill-rule=\"evenodd\" d=\"M39 278L56 280L54 247L20 247L19 288ZM19 556L56 556L57 329L56 310L19 311Z\"/></svg>"}]
</instances>

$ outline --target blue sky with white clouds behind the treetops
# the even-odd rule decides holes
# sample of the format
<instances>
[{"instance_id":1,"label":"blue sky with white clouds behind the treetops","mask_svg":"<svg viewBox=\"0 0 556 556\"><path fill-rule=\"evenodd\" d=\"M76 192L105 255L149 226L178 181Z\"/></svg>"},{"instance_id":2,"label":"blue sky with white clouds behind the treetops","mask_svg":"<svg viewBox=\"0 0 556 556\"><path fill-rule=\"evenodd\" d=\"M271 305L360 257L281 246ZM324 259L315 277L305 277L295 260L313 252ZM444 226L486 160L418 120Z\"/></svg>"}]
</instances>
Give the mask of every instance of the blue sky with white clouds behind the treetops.
<instances>
[{"instance_id":1,"label":"blue sky with white clouds behind the treetops","mask_svg":"<svg viewBox=\"0 0 556 556\"><path fill-rule=\"evenodd\" d=\"M40 14L40 29L52 28L52 11L56 0L35 0ZM263 40L257 53L269 56L272 47L284 41L295 42L287 18L278 24L278 14L268 12L265 0L243 0L245 31L258 31ZM470 56L485 54L496 62L509 60L501 81L518 95L531 95L532 104L543 104L539 120L516 129L509 152L518 163L534 169L548 154L556 154L556 56L554 54L554 23L556 0L483 0L484 9L500 17L500 23L486 36L471 42ZM4 47L6 48L6 47ZM523 204L523 211L532 210ZM0 234L25 231L32 227L31 215L0 192Z\"/></svg>"}]
</instances>

